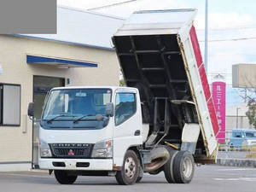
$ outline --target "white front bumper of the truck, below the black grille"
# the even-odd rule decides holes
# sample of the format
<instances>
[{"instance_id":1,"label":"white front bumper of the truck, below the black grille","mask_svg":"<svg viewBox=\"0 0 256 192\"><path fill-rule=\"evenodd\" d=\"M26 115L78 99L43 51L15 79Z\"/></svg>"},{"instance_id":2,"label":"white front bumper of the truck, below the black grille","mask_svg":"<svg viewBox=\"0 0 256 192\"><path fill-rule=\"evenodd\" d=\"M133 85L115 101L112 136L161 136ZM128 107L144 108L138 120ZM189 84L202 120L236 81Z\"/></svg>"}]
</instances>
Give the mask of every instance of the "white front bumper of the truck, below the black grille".
<instances>
[{"instance_id":1,"label":"white front bumper of the truck, below the black grille","mask_svg":"<svg viewBox=\"0 0 256 192\"><path fill-rule=\"evenodd\" d=\"M78 164L85 163L89 166L80 167ZM113 159L52 159L40 158L40 169L47 170L84 170L84 171L112 171ZM58 166L54 166L58 165ZM59 166L61 165L61 166Z\"/></svg>"}]
</instances>

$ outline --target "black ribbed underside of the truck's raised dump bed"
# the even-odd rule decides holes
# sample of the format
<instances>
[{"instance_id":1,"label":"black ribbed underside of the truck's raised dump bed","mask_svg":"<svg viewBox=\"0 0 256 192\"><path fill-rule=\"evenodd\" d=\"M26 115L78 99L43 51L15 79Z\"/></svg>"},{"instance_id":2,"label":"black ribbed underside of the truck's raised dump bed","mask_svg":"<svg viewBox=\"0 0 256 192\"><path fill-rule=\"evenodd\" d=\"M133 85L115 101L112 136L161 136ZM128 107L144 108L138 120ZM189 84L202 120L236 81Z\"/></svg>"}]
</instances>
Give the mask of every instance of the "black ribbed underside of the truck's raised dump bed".
<instances>
[{"instance_id":1,"label":"black ribbed underside of the truck's raised dump bed","mask_svg":"<svg viewBox=\"0 0 256 192\"><path fill-rule=\"evenodd\" d=\"M184 123L198 123L198 118L195 105L175 103L175 100L193 102L177 35L118 36L113 42L126 85L140 91L143 123L149 123L150 131L160 131L161 137L165 131L167 99L170 129L163 141L181 143ZM155 102L158 102L157 127L154 127Z\"/></svg>"}]
</instances>

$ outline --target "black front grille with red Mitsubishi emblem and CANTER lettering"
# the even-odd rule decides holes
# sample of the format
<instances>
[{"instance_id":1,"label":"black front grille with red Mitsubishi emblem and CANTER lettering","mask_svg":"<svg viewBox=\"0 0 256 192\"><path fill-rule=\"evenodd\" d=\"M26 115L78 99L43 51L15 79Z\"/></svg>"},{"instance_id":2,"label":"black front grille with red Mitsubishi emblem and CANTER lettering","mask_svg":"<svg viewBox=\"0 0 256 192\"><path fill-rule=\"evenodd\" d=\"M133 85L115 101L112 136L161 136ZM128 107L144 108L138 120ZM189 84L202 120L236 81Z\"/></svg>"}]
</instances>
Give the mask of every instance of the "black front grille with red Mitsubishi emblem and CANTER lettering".
<instances>
[{"instance_id":1,"label":"black front grille with red Mitsubishi emblem and CANTER lettering","mask_svg":"<svg viewBox=\"0 0 256 192\"><path fill-rule=\"evenodd\" d=\"M53 143L49 146L55 158L90 158L93 148L87 143Z\"/></svg>"}]
</instances>

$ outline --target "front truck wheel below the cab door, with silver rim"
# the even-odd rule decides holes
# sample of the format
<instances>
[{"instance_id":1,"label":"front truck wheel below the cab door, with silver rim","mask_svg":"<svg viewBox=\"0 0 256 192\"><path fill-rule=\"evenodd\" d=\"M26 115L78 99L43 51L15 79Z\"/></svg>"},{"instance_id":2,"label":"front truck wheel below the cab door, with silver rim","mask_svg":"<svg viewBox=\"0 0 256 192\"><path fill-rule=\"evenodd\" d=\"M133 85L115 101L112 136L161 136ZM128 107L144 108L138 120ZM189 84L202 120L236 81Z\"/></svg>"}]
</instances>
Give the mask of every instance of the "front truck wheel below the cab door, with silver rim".
<instances>
[{"instance_id":1,"label":"front truck wheel below the cab door, with silver rim","mask_svg":"<svg viewBox=\"0 0 256 192\"><path fill-rule=\"evenodd\" d=\"M115 175L116 181L122 185L134 184L137 181L139 171L137 154L132 150L128 150L121 170Z\"/></svg>"}]
</instances>

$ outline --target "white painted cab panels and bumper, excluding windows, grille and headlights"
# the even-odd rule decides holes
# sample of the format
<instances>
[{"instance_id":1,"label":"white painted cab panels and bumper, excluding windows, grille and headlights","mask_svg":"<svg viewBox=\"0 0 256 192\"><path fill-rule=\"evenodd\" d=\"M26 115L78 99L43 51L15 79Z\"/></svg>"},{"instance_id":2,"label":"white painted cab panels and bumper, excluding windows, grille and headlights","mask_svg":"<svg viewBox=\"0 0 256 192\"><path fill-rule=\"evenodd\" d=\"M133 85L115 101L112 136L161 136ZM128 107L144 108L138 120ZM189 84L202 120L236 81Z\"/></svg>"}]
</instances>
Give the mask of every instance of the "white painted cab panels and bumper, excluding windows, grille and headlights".
<instances>
[{"instance_id":1,"label":"white painted cab panels and bumper, excluding windows, grille and headlights","mask_svg":"<svg viewBox=\"0 0 256 192\"><path fill-rule=\"evenodd\" d=\"M143 144L143 120L139 92L136 88L128 87L63 87L56 89L86 89L86 88L108 88L113 92L112 102L115 106L115 96L118 93L133 93L136 98L136 113L130 119L120 125L115 125L114 116L109 118L108 125L100 130L45 130L40 127L39 138L44 143L98 143L113 140L113 159L52 159L40 158L41 169L66 169L66 170L113 170L113 166L123 166L125 152L128 148ZM140 135L135 136L135 131ZM52 162L65 162L66 167L55 167ZM89 162L89 167L76 167L76 162Z\"/></svg>"}]
</instances>

